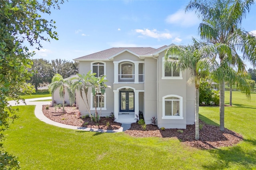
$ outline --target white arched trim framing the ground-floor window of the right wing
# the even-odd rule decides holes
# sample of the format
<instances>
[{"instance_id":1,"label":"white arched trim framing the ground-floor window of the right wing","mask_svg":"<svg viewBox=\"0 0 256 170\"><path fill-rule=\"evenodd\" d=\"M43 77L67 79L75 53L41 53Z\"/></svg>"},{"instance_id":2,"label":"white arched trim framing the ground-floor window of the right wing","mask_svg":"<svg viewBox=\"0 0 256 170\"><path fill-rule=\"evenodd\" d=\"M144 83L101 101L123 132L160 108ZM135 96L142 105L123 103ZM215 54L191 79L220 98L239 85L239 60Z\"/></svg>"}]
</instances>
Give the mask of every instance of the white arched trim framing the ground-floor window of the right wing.
<instances>
[{"instance_id":1,"label":"white arched trim framing the ground-floor window of the right wing","mask_svg":"<svg viewBox=\"0 0 256 170\"><path fill-rule=\"evenodd\" d=\"M178 97L180 99L180 116L166 116L165 115L165 99L167 97ZM162 98L162 119L184 119L183 118L183 98L181 96L178 95L166 95Z\"/></svg>"}]
</instances>

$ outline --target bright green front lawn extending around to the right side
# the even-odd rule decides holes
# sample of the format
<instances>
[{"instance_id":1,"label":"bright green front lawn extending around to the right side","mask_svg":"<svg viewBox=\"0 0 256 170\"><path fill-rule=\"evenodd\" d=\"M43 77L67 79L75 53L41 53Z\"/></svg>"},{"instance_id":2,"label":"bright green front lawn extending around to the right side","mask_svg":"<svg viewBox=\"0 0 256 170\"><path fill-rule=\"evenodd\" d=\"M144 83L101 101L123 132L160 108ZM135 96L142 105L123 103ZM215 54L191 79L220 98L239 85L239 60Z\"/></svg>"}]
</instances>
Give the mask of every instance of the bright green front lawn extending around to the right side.
<instances>
[{"instance_id":1,"label":"bright green front lawn extending around to the right side","mask_svg":"<svg viewBox=\"0 0 256 170\"><path fill-rule=\"evenodd\" d=\"M20 119L10 125L4 149L18 156L24 170L77 169L255 169L256 93L248 101L234 92L226 107L226 127L245 140L236 146L201 150L175 138L135 138L48 125L34 116L34 106L19 106ZM228 102L228 95L226 94ZM218 107L200 107L200 118L219 124Z\"/></svg>"}]
</instances>

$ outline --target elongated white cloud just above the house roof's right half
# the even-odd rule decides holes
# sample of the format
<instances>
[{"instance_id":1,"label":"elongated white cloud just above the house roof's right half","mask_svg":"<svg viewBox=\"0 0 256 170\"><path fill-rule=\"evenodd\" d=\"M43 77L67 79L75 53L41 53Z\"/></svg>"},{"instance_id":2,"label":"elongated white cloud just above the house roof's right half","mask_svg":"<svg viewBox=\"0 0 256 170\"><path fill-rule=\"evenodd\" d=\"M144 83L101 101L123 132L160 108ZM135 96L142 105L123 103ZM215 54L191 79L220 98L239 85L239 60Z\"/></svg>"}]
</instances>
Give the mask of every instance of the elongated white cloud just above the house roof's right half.
<instances>
[{"instance_id":1,"label":"elongated white cloud just above the house roof's right half","mask_svg":"<svg viewBox=\"0 0 256 170\"><path fill-rule=\"evenodd\" d=\"M157 39L171 39L172 38L172 35L170 33L160 33L156 29L153 29L153 30L136 29L135 32L140 33L140 34L142 34L143 36L146 36L146 37L152 37L152 38L157 38ZM141 37L141 36L139 36L139 37Z\"/></svg>"}]
</instances>

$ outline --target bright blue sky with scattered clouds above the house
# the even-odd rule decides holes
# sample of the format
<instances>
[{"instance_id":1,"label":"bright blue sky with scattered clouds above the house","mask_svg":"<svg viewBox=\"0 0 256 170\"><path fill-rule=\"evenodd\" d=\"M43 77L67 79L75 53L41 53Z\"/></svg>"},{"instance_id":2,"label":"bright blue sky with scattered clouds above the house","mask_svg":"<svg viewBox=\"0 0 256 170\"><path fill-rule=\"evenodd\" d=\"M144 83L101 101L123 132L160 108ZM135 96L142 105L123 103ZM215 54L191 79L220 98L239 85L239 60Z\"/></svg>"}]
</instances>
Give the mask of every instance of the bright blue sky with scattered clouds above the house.
<instances>
[{"instance_id":1,"label":"bright blue sky with scattered clouds above the house","mask_svg":"<svg viewBox=\"0 0 256 170\"><path fill-rule=\"evenodd\" d=\"M184 12L189 0L69 0L52 10L48 20L56 21L59 40L42 42L34 58L82 57L112 47L154 47L188 45L198 38L200 20ZM256 5L242 27L256 34ZM248 64L248 63L247 63ZM251 67L248 65L248 68Z\"/></svg>"}]
</instances>

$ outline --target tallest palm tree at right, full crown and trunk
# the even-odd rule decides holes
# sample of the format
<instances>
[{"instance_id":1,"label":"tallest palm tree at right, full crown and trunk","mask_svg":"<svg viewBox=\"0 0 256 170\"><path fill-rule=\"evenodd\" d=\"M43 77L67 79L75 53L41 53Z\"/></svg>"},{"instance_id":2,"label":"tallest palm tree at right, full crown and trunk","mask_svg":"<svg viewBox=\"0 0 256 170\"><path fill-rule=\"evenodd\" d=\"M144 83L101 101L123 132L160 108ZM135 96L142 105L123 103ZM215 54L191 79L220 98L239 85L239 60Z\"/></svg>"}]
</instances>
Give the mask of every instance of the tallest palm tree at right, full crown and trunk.
<instances>
[{"instance_id":1,"label":"tallest palm tree at right, full crown and trunk","mask_svg":"<svg viewBox=\"0 0 256 170\"><path fill-rule=\"evenodd\" d=\"M224 130L225 75L228 67L236 67L238 73L245 70L242 59L237 55L239 49L243 59L256 65L256 38L241 28L242 19L249 12L254 0L192 0L186 11L195 10L202 19L198 33L202 40L216 46L219 68L215 78L220 83L220 130ZM234 55L235 54L235 55Z\"/></svg>"}]
</instances>

